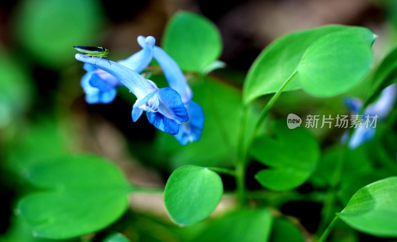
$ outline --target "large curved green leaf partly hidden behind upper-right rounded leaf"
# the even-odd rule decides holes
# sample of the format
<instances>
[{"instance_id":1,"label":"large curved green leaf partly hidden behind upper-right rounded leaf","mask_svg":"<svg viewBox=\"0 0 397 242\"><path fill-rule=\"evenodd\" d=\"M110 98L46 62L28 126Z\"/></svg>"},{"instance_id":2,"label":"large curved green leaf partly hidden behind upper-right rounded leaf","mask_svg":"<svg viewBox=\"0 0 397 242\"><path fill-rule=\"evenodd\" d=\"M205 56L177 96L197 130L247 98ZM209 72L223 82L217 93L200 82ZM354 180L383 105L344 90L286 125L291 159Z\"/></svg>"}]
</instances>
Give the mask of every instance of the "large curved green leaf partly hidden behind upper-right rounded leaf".
<instances>
[{"instance_id":1,"label":"large curved green leaf partly hidden behind upper-right rounded leaf","mask_svg":"<svg viewBox=\"0 0 397 242\"><path fill-rule=\"evenodd\" d=\"M362 27L328 25L294 32L275 40L262 51L248 71L244 82L244 103L250 103L262 95L276 92L295 71L304 52L311 44L325 35L342 30L359 33L362 36L364 36L363 32L368 31ZM295 76L284 91L300 88L299 80Z\"/></svg>"}]
</instances>

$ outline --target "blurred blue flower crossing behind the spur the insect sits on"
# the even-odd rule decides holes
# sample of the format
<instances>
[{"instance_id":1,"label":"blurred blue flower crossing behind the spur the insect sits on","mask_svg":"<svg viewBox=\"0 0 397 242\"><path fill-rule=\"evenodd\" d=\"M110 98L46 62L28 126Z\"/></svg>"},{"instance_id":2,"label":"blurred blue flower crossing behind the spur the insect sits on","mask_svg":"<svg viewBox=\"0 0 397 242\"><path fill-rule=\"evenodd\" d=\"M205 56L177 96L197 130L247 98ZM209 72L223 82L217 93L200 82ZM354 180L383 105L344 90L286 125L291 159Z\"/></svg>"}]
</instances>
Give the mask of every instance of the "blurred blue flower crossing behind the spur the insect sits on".
<instances>
[{"instance_id":1,"label":"blurred blue flower crossing behind the spur the insect sits on","mask_svg":"<svg viewBox=\"0 0 397 242\"><path fill-rule=\"evenodd\" d=\"M126 60L118 63L135 72L142 72L153 59L153 47L155 39L151 36L143 40L142 50L133 54ZM87 73L81 78L81 87L85 92L85 100L89 104L110 103L117 94L120 81L108 72L98 69L90 64L84 64Z\"/></svg>"}]
</instances>

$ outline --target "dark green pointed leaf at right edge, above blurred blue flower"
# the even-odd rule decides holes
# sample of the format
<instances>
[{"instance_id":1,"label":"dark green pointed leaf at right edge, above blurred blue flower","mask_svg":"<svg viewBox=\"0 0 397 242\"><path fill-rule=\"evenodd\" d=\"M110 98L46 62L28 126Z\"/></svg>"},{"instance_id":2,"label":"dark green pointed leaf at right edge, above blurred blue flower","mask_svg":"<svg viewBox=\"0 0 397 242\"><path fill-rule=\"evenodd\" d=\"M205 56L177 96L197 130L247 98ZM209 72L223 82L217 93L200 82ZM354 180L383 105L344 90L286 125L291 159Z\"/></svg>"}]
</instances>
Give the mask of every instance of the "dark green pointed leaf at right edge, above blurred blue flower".
<instances>
[{"instance_id":1,"label":"dark green pointed leaf at right edge, above blurred blue flower","mask_svg":"<svg viewBox=\"0 0 397 242\"><path fill-rule=\"evenodd\" d=\"M383 59L373 76L373 86L370 89L363 109L375 101L383 89L397 82L397 46Z\"/></svg>"}]
</instances>

